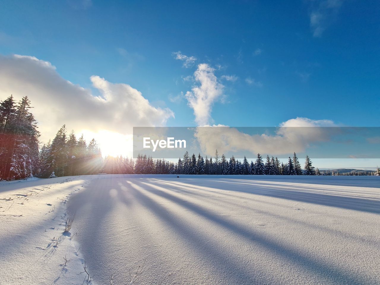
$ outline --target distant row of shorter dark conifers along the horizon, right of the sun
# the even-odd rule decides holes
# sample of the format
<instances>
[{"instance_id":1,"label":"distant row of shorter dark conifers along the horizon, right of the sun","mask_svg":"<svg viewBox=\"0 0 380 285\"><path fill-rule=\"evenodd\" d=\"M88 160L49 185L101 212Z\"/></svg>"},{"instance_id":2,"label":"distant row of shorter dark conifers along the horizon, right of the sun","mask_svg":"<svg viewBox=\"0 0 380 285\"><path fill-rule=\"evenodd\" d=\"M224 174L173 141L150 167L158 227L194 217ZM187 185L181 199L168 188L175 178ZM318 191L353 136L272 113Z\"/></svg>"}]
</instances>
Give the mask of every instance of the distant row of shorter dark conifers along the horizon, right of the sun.
<instances>
[{"instance_id":1,"label":"distant row of shorter dark conifers along the horizon, right of the sun","mask_svg":"<svg viewBox=\"0 0 380 285\"><path fill-rule=\"evenodd\" d=\"M176 163L165 159L154 159L147 155L138 154L136 159L123 157L106 157L103 171L107 174L209 174L209 175L380 175L380 169L372 173L339 173L337 171L324 170L312 166L308 156L305 159L304 169L301 168L297 154L288 158L286 164L280 162L277 157L266 156L265 161L257 154L255 162L249 162L246 157L238 160L235 157L226 159L220 157L216 150L215 156L203 158L201 154L189 155L185 152Z\"/></svg>"}]
</instances>

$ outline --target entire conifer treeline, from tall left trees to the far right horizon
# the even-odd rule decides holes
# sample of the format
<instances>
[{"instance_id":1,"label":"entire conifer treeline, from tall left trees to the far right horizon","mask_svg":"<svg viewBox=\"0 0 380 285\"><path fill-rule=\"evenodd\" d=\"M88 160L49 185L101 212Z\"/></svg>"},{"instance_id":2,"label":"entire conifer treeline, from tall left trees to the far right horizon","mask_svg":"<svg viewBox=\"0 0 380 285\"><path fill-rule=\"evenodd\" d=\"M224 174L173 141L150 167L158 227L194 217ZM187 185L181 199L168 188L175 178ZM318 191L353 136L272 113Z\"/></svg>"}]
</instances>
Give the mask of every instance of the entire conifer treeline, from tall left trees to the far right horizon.
<instances>
[{"instance_id":1,"label":"entire conifer treeline, from tall left trees to the far right horizon","mask_svg":"<svg viewBox=\"0 0 380 285\"><path fill-rule=\"evenodd\" d=\"M301 168L296 153L284 164L277 157L266 156L265 161L257 154L255 161L246 157L227 159L216 150L214 157L196 156L185 152L176 163L165 159L153 159L139 154L136 159L102 158L95 139L88 144L76 138L74 131L67 135L63 125L54 139L40 146L40 133L33 117L28 97L15 102L13 96L0 102L0 180L27 177L56 177L84 174L223 174L223 175L352 175L334 171L320 171L312 166L306 156ZM40 147L39 147L40 146ZM368 175L355 173L354 175ZM380 170L369 175L379 175Z\"/></svg>"}]
</instances>

